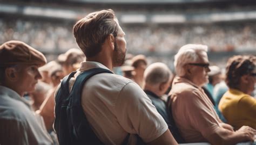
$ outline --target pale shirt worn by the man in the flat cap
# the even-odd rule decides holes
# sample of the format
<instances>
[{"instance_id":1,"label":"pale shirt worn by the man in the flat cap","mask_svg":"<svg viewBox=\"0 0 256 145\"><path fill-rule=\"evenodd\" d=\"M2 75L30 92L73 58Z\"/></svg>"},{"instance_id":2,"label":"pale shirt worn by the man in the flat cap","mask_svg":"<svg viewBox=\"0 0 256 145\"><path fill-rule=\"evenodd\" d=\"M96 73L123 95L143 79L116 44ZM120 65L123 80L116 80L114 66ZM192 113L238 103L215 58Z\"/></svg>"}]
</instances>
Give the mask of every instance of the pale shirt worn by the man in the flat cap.
<instances>
[{"instance_id":1,"label":"pale shirt worn by the man in the flat cap","mask_svg":"<svg viewBox=\"0 0 256 145\"><path fill-rule=\"evenodd\" d=\"M0 86L0 144L52 144L31 109L17 92Z\"/></svg>"}]
</instances>

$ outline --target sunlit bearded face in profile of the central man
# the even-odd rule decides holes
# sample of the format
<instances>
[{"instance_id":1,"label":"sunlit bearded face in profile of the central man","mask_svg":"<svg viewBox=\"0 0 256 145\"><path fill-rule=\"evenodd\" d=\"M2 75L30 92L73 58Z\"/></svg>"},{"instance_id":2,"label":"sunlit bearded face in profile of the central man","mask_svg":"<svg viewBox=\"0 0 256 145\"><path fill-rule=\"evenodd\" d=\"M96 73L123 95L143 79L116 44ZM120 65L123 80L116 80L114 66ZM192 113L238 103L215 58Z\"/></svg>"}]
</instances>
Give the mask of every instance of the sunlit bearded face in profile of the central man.
<instances>
[{"instance_id":1,"label":"sunlit bearded face in profile of the central man","mask_svg":"<svg viewBox=\"0 0 256 145\"><path fill-rule=\"evenodd\" d=\"M114 40L114 52L113 52L113 66L118 67L122 66L125 60L126 54L126 41L125 41L125 33L122 28L118 24L118 33L117 37Z\"/></svg>"}]
</instances>

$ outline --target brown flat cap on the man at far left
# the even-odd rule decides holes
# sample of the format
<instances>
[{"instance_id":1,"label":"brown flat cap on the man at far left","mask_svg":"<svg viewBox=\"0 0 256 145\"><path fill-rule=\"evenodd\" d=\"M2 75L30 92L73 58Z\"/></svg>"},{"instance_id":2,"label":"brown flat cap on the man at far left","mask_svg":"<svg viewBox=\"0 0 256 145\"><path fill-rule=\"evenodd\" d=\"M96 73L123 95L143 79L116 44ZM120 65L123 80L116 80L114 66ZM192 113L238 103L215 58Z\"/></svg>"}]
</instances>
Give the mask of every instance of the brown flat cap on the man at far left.
<instances>
[{"instance_id":1,"label":"brown flat cap on the man at far left","mask_svg":"<svg viewBox=\"0 0 256 145\"><path fill-rule=\"evenodd\" d=\"M36 64L43 66L45 56L22 41L7 41L0 46L0 66L12 64Z\"/></svg>"}]
</instances>

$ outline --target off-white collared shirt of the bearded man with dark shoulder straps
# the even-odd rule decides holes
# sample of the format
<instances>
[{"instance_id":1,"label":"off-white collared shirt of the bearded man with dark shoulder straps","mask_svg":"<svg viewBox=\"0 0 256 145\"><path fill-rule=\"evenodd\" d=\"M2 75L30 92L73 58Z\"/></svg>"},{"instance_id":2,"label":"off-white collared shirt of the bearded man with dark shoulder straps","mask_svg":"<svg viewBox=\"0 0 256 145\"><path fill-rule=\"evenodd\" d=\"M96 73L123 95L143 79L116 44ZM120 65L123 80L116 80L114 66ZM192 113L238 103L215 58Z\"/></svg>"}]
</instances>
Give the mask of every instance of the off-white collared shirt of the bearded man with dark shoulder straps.
<instances>
[{"instance_id":1,"label":"off-white collared shirt of the bearded man with dark shoulder straps","mask_svg":"<svg viewBox=\"0 0 256 145\"><path fill-rule=\"evenodd\" d=\"M75 77L80 71L98 67L108 69L98 62L82 62ZM71 79L70 86L74 82L75 78ZM168 129L145 92L123 76L110 73L92 76L83 86L81 100L87 120L104 144L122 144L128 133L151 142Z\"/></svg>"}]
</instances>

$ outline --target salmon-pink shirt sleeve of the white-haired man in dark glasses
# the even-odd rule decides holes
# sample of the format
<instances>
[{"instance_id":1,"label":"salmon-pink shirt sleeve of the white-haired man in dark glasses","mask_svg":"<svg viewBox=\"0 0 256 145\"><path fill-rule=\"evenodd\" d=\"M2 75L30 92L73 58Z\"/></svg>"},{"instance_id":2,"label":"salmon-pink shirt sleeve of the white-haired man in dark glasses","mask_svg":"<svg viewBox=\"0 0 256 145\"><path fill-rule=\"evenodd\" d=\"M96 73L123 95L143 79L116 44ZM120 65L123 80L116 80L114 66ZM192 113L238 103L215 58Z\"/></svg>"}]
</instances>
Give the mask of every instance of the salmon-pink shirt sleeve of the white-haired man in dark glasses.
<instances>
[{"instance_id":1,"label":"salmon-pink shirt sleeve of the white-haired man in dark glasses","mask_svg":"<svg viewBox=\"0 0 256 145\"><path fill-rule=\"evenodd\" d=\"M188 112L188 121L193 128L199 131L206 139L219 128L218 118L214 117L210 106L207 106L200 93L192 91L184 101L185 111Z\"/></svg>"}]
</instances>

